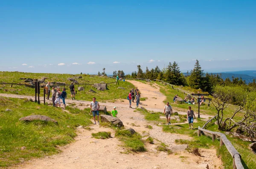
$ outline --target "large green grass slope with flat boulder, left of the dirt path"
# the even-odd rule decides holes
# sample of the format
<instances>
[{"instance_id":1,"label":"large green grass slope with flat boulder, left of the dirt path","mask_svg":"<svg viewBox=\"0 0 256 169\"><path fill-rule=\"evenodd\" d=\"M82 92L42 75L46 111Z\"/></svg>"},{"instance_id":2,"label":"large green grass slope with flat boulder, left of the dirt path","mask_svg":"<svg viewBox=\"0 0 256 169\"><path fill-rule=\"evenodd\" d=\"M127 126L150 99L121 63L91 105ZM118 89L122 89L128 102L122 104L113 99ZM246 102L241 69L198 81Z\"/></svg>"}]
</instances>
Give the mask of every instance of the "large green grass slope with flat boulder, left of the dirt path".
<instances>
[{"instance_id":1,"label":"large green grass slope with flat boulder, left of the dirt path","mask_svg":"<svg viewBox=\"0 0 256 169\"><path fill-rule=\"evenodd\" d=\"M6 108L12 111L6 112ZM58 153L57 146L74 140L76 127L91 124L88 113L72 111L75 113L66 113L61 108L33 103L28 99L0 97L0 167L20 163L20 159L26 161ZM58 124L19 121L19 118L28 115L47 115ZM22 150L21 147L26 148Z\"/></svg>"}]
</instances>

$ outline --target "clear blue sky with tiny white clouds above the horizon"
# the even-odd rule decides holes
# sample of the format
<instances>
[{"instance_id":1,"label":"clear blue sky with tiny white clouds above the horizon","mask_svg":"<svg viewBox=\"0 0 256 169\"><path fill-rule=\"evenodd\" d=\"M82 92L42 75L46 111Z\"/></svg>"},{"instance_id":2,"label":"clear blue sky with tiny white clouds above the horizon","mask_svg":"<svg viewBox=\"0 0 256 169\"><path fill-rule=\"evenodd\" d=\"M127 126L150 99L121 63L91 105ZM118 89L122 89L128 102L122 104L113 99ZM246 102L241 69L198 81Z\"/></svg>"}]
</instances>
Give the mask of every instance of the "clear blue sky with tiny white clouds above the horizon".
<instances>
[{"instance_id":1,"label":"clear blue sky with tiny white clouds above the horizon","mask_svg":"<svg viewBox=\"0 0 256 169\"><path fill-rule=\"evenodd\" d=\"M0 71L256 70L253 0L0 0Z\"/></svg>"}]
</instances>

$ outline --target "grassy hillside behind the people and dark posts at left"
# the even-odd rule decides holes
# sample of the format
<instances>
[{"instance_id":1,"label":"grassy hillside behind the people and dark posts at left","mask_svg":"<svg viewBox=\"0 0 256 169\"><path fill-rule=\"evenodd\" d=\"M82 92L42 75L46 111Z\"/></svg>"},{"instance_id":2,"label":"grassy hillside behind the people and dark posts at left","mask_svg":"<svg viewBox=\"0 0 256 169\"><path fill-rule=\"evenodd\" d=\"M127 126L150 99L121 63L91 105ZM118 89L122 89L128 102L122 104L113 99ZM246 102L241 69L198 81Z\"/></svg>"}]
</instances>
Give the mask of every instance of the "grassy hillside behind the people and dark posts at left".
<instances>
[{"instance_id":1,"label":"grassy hillside behind the people and dark posts at left","mask_svg":"<svg viewBox=\"0 0 256 169\"><path fill-rule=\"evenodd\" d=\"M78 77L82 78L79 79ZM45 83L41 85L46 85L46 82L61 82L66 83L66 91L67 91L67 99L70 98L70 90L69 85L71 81L68 78L76 79L80 84L94 84L99 82L111 83L115 82L115 79L108 78L107 76L99 77L99 76L91 76L86 74L57 74L57 73L23 73L23 72L0 72L0 83L19 83L19 84L29 84L24 82L25 80L20 80L20 78L31 78L31 79L42 79L47 78ZM75 85L75 90L77 90L76 99L77 100L85 100L91 101L93 97L96 97L98 101L115 101L115 99L126 99L129 90L131 90L134 85L127 82L119 81L119 85L113 83L108 85L109 90L98 91L93 85L80 85L84 87L84 91L78 91L78 85ZM124 87L123 89L117 89L117 87ZM63 86L61 86L63 88ZM91 93L89 90L92 89L96 91L96 93ZM9 93L9 94L19 94L19 95L28 95L35 96L35 89L26 86L20 85L0 85L0 93ZM40 97L43 97L43 88L41 88Z\"/></svg>"}]
</instances>

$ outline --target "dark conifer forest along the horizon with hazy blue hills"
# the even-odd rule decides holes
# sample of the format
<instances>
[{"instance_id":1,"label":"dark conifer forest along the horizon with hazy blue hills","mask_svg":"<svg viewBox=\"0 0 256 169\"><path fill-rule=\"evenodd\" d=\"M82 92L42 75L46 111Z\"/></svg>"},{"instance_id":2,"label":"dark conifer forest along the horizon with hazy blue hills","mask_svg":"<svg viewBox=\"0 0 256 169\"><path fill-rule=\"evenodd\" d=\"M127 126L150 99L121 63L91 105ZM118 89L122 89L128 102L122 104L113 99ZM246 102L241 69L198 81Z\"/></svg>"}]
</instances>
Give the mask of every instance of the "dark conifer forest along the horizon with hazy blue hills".
<instances>
[{"instance_id":1,"label":"dark conifer forest along the horizon with hazy blue hills","mask_svg":"<svg viewBox=\"0 0 256 169\"><path fill-rule=\"evenodd\" d=\"M247 72L253 74L254 72ZM102 73L105 74L105 68L103 68ZM220 86L247 86L250 90L256 89L256 77L243 75L243 74L235 74L232 73L204 73L202 70L199 61L196 60L194 69L190 72L181 73L180 68L176 62L169 62L167 67L160 70L158 66L156 68L152 68L151 70L146 68L145 71L141 69L140 65L137 65L137 71L132 72L131 74L125 74L123 70L114 71L114 77L118 76L125 78L142 78L142 79L158 79L164 82L170 83L172 85L182 85L189 86L193 89L201 89L204 92L212 93L213 89L216 85ZM255 73L254 73L255 74ZM253 75L254 75L253 74ZM235 76L236 75L236 76ZM256 74L255 74L256 76Z\"/></svg>"}]
</instances>

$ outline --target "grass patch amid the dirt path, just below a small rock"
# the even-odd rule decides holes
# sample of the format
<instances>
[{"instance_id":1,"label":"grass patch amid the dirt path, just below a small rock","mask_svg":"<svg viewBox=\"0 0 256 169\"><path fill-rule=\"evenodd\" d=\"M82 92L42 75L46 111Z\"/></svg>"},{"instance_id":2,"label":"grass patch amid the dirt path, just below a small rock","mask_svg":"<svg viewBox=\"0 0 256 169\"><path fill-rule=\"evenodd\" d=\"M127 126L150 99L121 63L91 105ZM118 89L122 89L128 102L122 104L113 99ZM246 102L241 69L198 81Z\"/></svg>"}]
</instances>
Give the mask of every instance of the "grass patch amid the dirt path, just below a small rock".
<instances>
[{"instance_id":1,"label":"grass patch amid the dirt path, just below a small rock","mask_svg":"<svg viewBox=\"0 0 256 169\"><path fill-rule=\"evenodd\" d=\"M124 143L124 146L127 147L130 151L133 152L145 152L146 148L141 140L142 136L139 133L131 134L128 130L116 130L116 138L119 138L120 141Z\"/></svg>"}]
</instances>

